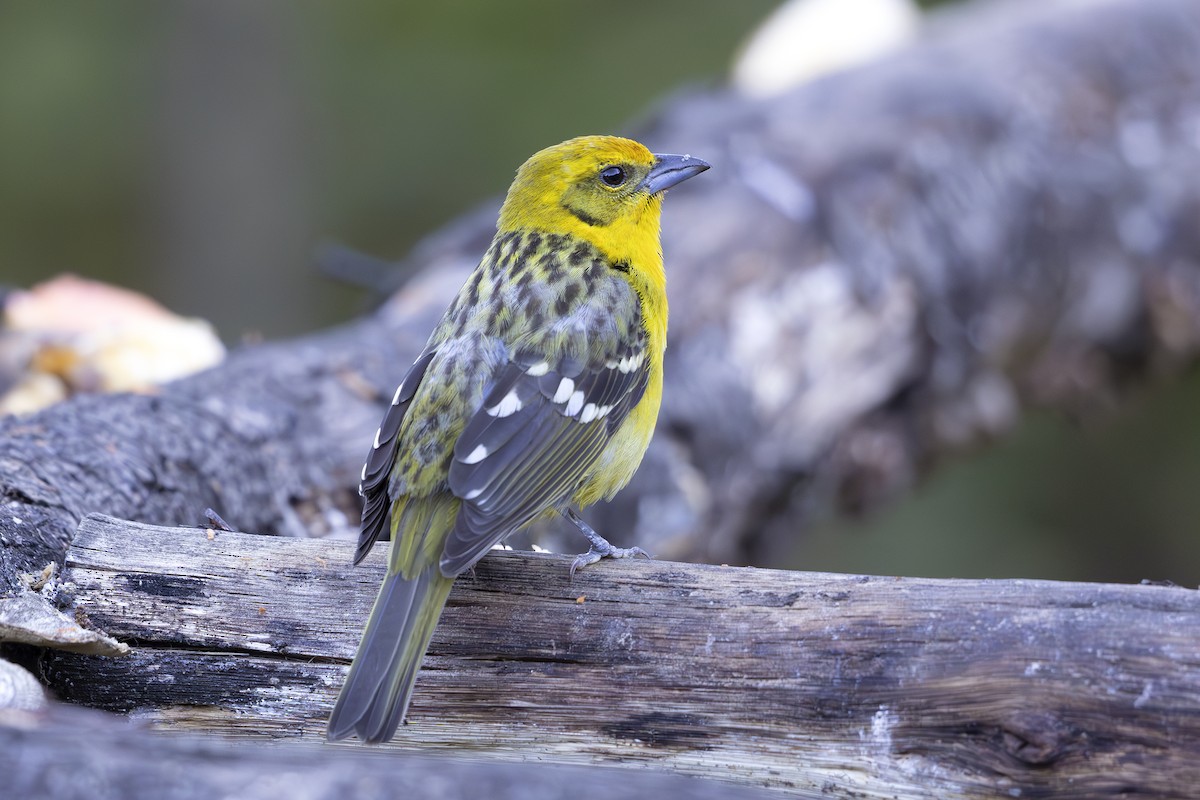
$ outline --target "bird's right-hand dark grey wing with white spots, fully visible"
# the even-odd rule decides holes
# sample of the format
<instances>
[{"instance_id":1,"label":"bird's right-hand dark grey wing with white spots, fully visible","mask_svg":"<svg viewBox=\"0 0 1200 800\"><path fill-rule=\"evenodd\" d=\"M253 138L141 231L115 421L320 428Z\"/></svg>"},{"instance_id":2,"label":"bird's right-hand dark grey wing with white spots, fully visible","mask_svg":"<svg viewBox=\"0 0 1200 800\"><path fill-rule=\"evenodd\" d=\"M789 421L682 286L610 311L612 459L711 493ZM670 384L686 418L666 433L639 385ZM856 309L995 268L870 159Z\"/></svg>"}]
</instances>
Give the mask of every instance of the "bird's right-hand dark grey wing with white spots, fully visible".
<instances>
[{"instance_id":1,"label":"bird's right-hand dark grey wing with white spots, fully visible","mask_svg":"<svg viewBox=\"0 0 1200 800\"><path fill-rule=\"evenodd\" d=\"M563 503L648 380L642 336L581 335L552 356L545 348L517 350L499 367L455 444L449 482L462 507L443 549L443 575L458 575Z\"/></svg>"}]
</instances>

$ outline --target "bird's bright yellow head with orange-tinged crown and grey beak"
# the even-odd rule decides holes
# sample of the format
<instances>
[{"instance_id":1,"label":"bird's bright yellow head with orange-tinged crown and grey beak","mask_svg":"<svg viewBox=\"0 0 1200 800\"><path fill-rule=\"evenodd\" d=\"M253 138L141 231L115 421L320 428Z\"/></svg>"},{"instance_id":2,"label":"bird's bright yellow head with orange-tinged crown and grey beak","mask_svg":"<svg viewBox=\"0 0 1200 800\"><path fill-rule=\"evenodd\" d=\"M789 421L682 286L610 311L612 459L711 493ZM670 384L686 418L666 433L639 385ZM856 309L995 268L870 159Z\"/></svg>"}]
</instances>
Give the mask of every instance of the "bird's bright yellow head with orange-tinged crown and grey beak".
<instances>
[{"instance_id":1,"label":"bird's bright yellow head with orange-tinged crown and grey beak","mask_svg":"<svg viewBox=\"0 0 1200 800\"><path fill-rule=\"evenodd\" d=\"M658 247L662 192L706 169L700 158L653 154L620 137L569 139L521 166L498 228L571 234L622 259L638 239Z\"/></svg>"}]
</instances>

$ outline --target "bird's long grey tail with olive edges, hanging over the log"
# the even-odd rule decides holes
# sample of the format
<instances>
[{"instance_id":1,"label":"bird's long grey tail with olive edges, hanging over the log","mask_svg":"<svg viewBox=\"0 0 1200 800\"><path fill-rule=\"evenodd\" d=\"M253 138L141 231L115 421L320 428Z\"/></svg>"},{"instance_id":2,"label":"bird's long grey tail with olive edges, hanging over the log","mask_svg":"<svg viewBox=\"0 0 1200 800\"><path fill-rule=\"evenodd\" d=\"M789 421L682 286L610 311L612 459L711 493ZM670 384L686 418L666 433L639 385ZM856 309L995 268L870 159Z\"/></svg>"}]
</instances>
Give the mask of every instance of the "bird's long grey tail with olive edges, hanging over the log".
<instances>
[{"instance_id":1,"label":"bird's long grey tail with olive edges, hanging over the log","mask_svg":"<svg viewBox=\"0 0 1200 800\"><path fill-rule=\"evenodd\" d=\"M394 549L397 543L392 542ZM330 741L356 733L362 741L378 744L396 733L454 585L454 578L443 576L436 560L406 579L396 555L394 552L358 655L329 717Z\"/></svg>"}]
</instances>

